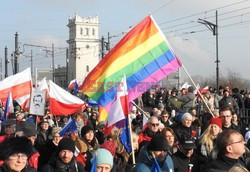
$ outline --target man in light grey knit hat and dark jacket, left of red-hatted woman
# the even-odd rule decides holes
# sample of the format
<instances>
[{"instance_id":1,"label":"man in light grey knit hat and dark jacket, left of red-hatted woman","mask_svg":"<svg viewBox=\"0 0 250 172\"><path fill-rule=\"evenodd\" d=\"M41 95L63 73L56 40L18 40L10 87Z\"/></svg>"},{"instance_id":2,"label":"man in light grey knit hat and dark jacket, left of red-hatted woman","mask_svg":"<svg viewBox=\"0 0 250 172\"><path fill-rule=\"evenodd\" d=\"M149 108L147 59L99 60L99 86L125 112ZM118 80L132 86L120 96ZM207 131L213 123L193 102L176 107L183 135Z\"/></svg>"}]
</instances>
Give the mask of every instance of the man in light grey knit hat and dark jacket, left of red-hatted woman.
<instances>
[{"instance_id":1,"label":"man in light grey knit hat and dark jacket, left of red-hatted woman","mask_svg":"<svg viewBox=\"0 0 250 172\"><path fill-rule=\"evenodd\" d=\"M177 140L179 140L183 135L190 135L192 136L192 121L193 117L190 113L186 112L181 117L181 123L178 123L173 127L174 133L176 135Z\"/></svg>"}]
</instances>

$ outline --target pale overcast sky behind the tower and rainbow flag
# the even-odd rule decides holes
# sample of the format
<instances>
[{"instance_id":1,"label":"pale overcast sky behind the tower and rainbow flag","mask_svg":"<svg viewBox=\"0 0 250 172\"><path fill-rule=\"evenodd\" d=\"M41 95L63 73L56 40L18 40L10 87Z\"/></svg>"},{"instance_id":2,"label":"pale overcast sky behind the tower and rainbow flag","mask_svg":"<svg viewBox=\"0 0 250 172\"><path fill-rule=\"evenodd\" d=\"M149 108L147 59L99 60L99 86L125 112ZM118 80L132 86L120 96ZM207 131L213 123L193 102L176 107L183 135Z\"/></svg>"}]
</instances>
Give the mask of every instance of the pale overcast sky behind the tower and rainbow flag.
<instances>
[{"instance_id":1,"label":"pale overcast sky behind the tower and rainbow flag","mask_svg":"<svg viewBox=\"0 0 250 172\"><path fill-rule=\"evenodd\" d=\"M220 72L228 70L250 79L249 0L9 0L0 6L0 58L7 46L14 51L14 34L19 33L20 70L30 65L49 68L51 55L44 48L24 44L67 47L69 16L99 16L100 37L110 32L112 46L148 14L152 14L190 75L215 75L215 36L198 18L215 24L218 10ZM45 62L43 62L45 61ZM65 51L58 51L55 64L65 66ZM4 66L4 61L3 61ZM9 70L11 70L9 65ZM4 68L2 69L4 73ZM10 72L9 74L12 74ZM183 74L185 75L185 74Z\"/></svg>"}]
</instances>

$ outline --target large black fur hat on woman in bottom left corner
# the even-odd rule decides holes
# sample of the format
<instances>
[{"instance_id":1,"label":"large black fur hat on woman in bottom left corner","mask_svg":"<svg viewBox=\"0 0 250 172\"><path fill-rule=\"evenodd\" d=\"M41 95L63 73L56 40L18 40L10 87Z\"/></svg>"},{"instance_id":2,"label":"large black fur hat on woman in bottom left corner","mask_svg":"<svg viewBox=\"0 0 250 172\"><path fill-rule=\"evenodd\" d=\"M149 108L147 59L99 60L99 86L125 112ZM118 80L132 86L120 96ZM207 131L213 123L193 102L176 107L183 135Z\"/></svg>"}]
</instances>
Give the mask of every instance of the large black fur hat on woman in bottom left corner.
<instances>
[{"instance_id":1,"label":"large black fur hat on woman in bottom left corner","mask_svg":"<svg viewBox=\"0 0 250 172\"><path fill-rule=\"evenodd\" d=\"M0 144L1 159L6 160L16 153L24 153L28 157L32 154L32 143L27 137L12 137Z\"/></svg>"}]
</instances>

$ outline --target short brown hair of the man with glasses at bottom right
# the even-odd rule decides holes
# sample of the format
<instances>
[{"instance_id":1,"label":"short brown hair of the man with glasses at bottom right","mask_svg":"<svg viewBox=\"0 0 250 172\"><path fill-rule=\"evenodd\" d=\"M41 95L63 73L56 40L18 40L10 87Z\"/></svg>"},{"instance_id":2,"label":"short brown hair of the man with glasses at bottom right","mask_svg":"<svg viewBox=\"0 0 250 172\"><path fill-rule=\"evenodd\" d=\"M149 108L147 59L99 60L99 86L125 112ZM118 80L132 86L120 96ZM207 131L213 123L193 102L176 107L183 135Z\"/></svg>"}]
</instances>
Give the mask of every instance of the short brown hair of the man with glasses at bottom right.
<instances>
[{"instance_id":1,"label":"short brown hair of the man with glasses at bottom right","mask_svg":"<svg viewBox=\"0 0 250 172\"><path fill-rule=\"evenodd\" d=\"M219 154L225 155L227 153L226 147L231 139L230 136L232 134L241 135L238 131L236 131L234 129L227 129L218 135L217 141L216 141L216 146L218 148Z\"/></svg>"}]
</instances>

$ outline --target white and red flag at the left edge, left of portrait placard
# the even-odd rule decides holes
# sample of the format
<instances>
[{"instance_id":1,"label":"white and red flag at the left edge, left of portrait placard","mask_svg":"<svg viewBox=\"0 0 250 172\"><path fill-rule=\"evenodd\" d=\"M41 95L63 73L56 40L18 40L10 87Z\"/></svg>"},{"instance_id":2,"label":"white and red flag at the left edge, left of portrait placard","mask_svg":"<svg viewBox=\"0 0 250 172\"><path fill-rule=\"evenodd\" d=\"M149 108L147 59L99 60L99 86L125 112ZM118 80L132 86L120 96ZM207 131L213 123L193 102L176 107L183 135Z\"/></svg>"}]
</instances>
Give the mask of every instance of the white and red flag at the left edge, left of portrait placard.
<instances>
[{"instance_id":1,"label":"white and red flag at the left edge, left of portrait placard","mask_svg":"<svg viewBox=\"0 0 250 172\"><path fill-rule=\"evenodd\" d=\"M12 99L23 108L30 99L32 80L30 68L15 75L9 76L0 82L0 99L5 104L8 93L12 93Z\"/></svg>"}]
</instances>

